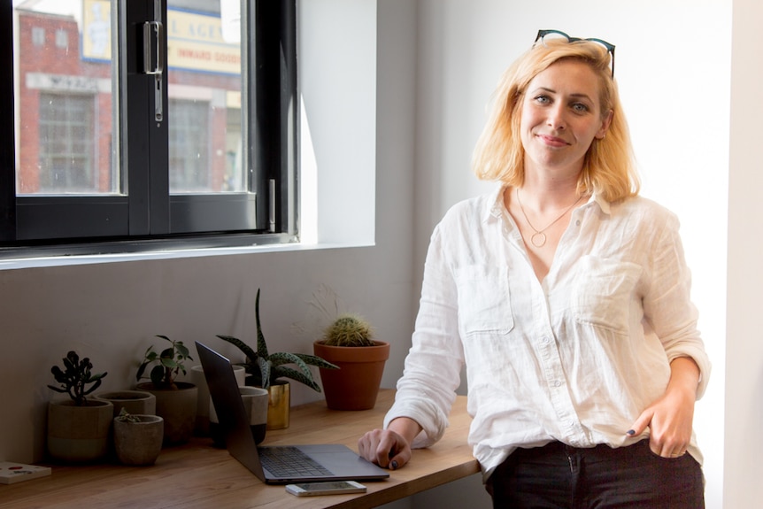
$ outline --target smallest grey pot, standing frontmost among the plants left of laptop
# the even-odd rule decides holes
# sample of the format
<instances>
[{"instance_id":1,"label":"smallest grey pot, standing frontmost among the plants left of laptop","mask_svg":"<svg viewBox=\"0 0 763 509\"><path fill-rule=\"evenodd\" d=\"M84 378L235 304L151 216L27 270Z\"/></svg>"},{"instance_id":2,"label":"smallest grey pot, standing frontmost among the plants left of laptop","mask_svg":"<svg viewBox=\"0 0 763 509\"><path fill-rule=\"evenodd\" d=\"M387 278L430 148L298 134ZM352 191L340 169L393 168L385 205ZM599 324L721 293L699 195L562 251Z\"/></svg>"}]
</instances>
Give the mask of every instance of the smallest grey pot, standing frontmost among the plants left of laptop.
<instances>
[{"instance_id":1,"label":"smallest grey pot, standing frontmost among the plants left of laptop","mask_svg":"<svg viewBox=\"0 0 763 509\"><path fill-rule=\"evenodd\" d=\"M162 450L165 422L158 415L134 415L140 422L114 419L114 451L123 465L153 465Z\"/></svg>"}]
</instances>

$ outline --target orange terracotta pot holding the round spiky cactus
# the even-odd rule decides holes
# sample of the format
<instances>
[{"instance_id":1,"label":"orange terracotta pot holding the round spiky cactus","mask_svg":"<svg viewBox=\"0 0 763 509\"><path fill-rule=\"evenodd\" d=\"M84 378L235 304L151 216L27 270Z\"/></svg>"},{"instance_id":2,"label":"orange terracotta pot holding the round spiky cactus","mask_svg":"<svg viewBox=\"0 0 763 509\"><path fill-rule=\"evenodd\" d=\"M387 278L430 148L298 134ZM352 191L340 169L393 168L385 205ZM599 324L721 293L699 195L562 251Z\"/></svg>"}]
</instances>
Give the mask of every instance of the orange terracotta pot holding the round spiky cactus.
<instances>
[{"instance_id":1,"label":"orange terracotta pot holding the round spiky cactus","mask_svg":"<svg viewBox=\"0 0 763 509\"><path fill-rule=\"evenodd\" d=\"M315 355L339 366L320 368L326 405L333 410L368 410L376 405L384 365L389 359L389 343L374 346L328 346L312 343Z\"/></svg>"}]
</instances>

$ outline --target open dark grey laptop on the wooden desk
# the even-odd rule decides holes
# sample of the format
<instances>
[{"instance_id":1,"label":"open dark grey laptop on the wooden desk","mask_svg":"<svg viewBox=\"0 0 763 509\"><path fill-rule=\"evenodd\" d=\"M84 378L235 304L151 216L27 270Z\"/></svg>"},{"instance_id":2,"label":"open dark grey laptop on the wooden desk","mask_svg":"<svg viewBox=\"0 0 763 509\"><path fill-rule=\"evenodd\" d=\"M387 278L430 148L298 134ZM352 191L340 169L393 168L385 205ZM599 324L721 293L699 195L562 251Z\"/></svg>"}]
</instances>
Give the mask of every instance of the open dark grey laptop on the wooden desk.
<instances>
[{"instance_id":1,"label":"open dark grey laptop on the wooden desk","mask_svg":"<svg viewBox=\"0 0 763 509\"><path fill-rule=\"evenodd\" d=\"M268 484L320 481L381 481L389 471L338 444L257 446L230 360L196 343L227 451Z\"/></svg>"}]
</instances>

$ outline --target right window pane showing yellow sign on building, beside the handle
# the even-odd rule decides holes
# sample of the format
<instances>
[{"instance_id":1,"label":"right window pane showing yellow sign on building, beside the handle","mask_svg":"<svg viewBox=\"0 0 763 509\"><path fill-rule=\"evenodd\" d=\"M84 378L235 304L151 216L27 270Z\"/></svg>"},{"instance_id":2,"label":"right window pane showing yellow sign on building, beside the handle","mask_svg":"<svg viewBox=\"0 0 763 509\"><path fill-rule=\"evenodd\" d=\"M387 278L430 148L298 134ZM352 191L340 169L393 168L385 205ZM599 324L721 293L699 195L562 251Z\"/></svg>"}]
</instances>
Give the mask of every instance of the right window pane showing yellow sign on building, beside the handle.
<instances>
[{"instance_id":1,"label":"right window pane showing yellow sign on building, beside the handle","mask_svg":"<svg viewBox=\"0 0 763 509\"><path fill-rule=\"evenodd\" d=\"M241 32L230 14L237 12L238 1L168 3L173 194L248 190L242 164Z\"/></svg>"}]
</instances>

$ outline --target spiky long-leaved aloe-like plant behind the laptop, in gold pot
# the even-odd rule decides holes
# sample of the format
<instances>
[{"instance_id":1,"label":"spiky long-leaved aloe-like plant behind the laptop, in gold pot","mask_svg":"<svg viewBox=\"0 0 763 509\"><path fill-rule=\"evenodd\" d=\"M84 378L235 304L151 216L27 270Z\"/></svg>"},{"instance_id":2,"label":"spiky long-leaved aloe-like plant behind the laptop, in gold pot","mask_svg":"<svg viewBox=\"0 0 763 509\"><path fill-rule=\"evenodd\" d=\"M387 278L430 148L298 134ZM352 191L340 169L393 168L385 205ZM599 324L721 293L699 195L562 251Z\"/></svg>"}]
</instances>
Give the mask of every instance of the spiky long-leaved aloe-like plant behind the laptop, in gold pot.
<instances>
[{"instance_id":1,"label":"spiky long-leaved aloe-like plant behind the laptop, in gold pot","mask_svg":"<svg viewBox=\"0 0 763 509\"><path fill-rule=\"evenodd\" d=\"M290 378L320 392L320 386L313 379L312 372L308 366L318 366L326 369L339 369L339 367L314 355L283 351L269 353L259 320L259 289L257 290L254 312L257 320L257 351L238 338L230 335L218 335L223 341L235 345L246 356L246 362L243 363L243 366L246 369L246 373L253 378L253 384L267 389L280 378ZM285 365L294 365L297 368Z\"/></svg>"}]
</instances>

